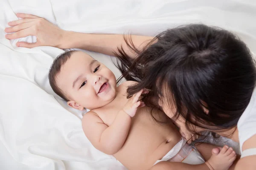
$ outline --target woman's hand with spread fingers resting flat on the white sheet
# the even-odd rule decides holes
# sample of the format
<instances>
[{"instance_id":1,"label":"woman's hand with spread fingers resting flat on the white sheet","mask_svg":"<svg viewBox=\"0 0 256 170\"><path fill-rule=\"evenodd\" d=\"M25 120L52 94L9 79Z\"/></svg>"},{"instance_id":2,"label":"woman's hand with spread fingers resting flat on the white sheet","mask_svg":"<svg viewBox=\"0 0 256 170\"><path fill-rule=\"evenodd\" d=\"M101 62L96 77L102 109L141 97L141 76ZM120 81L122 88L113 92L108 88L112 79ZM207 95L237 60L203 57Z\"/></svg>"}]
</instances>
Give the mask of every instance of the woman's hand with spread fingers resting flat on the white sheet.
<instances>
[{"instance_id":1,"label":"woman's hand with spread fingers resting flat on the white sheet","mask_svg":"<svg viewBox=\"0 0 256 170\"><path fill-rule=\"evenodd\" d=\"M17 42L18 47L53 46L62 48L61 40L65 34L64 30L35 15L18 13L17 17L23 19L8 23L12 27L6 28L5 31L12 34L6 34L6 38L12 40L29 35L34 35L37 38L35 43Z\"/></svg>"}]
</instances>

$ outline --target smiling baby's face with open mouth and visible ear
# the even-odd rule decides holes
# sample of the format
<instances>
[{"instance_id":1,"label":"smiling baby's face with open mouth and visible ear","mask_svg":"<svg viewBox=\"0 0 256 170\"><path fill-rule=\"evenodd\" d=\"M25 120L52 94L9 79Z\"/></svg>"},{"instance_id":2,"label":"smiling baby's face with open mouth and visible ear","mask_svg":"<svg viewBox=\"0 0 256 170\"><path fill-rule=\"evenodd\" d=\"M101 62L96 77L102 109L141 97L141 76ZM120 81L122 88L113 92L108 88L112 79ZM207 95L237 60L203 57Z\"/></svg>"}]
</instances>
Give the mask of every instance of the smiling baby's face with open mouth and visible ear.
<instances>
[{"instance_id":1,"label":"smiling baby's face with open mouth and visible ear","mask_svg":"<svg viewBox=\"0 0 256 170\"><path fill-rule=\"evenodd\" d=\"M73 53L62 65L56 82L70 99L68 104L79 110L79 106L90 110L102 107L116 96L116 77L113 72L81 51Z\"/></svg>"}]
</instances>

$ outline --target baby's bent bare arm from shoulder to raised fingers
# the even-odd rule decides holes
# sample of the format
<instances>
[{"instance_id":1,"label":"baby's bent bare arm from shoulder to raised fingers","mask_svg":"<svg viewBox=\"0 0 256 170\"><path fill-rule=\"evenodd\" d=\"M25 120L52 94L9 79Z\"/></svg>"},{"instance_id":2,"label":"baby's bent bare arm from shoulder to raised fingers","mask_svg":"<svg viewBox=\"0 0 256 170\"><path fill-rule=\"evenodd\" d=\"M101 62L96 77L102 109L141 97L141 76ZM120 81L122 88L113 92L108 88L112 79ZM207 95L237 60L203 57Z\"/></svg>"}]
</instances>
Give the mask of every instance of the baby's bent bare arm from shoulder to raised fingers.
<instances>
[{"instance_id":1,"label":"baby's bent bare arm from shoulder to raised fingers","mask_svg":"<svg viewBox=\"0 0 256 170\"><path fill-rule=\"evenodd\" d=\"M96 149L108 155L113 155L121 149L131 126L131 118L138 107L144 106L143 102L138 101L142 93L143 91L140 91L128 100L110 126L106 125L94 112L84 115L82 119L84 134Z\"/></svg>"}]
</instances>

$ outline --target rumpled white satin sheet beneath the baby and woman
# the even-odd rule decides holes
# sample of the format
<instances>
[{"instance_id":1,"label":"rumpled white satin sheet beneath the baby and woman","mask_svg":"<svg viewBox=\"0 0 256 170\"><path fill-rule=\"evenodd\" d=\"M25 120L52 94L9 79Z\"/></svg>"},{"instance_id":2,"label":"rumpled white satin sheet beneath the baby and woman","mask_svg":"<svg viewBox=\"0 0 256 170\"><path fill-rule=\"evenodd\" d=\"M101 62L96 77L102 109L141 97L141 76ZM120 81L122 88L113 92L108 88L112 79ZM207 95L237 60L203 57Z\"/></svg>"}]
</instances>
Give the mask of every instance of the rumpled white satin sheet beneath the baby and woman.
<instances>
[{"instance_id":1,"label":"rumpled white satin sheet beneath the baby and woman","mask_svg":"<svg viewBox=\"0 0 256 170\"><path fill-rule=\"evenodd\" d=\"M5 39L4 28L18 19L17 12L84 33L153 36L166 28L201 22L235 32L256 54L255 0L1 0L1 170L125 170L113 156L90 144L81 129L83 112L68 108L50 88L49 67L63 51L15 46L17 41L35 41L31 36ZM109 56L90 55L119 77Z\"/></svg>"}]
</instances>

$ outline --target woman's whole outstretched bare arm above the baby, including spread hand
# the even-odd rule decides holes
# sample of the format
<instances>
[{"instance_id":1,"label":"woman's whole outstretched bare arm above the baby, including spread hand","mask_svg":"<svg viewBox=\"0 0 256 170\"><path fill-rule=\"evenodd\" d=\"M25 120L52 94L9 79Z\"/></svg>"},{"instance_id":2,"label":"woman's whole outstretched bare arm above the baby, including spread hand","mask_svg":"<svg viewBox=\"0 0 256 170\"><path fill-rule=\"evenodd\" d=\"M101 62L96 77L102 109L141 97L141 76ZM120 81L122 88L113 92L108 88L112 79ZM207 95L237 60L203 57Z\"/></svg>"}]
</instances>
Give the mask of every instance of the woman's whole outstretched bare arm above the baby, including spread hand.
<instances>
[{"instance_id":1,"label":"woman's whole outstretched bare arm above the baby, including spread hand","mask_svg":"<svg viewBox=\"0 0 256 170\"><path fill-rule=\"evenodd\" d=\"M17 14L21 20L12 21L9 23L9 28L6 28L7 39L17 39L34 35L37 37L37 42L26 43L17 42L17 46L33 48L36 46L54 46L57 48L81 48L89 51L95 51L102 54L114 56L113 52L117 52L117 48L121 46L125 52L135 57L132 51L128 48L122 34L84 34L73 31L65 31L44 18L37 17L31 14ZM125 35L129 38L129 35ZM154 37L131 35L131 40L134 46L141 49L147 45Z\"/></svg>"}]
</instances>

